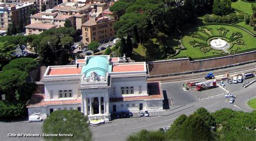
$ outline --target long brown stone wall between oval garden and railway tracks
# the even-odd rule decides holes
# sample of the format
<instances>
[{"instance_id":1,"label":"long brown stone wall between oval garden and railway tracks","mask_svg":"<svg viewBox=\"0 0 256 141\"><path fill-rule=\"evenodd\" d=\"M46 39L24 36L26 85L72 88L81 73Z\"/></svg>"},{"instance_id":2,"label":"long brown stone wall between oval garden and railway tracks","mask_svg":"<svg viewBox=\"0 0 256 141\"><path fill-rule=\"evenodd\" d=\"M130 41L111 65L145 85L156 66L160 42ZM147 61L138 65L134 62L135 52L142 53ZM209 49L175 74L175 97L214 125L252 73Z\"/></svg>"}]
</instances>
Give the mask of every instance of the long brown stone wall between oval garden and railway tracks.
<instances>
[{"instance_id":1,"label":"long brown stone wall between oval garden and railway tracks","mask_svg":"<svg viewBox=\"0 0 256 141\"><path fill-rule=\"evenodd\" d=\"M151 61L147 62L147 64L149 65L150 76L154 76L181 72L191 72L201 69L218 68L234 64L241 64L242 62L248 62L253 60L256 60L256 51L196 61L190 61L188 58L185 58Z\"/></svg>"}]
</instances>

